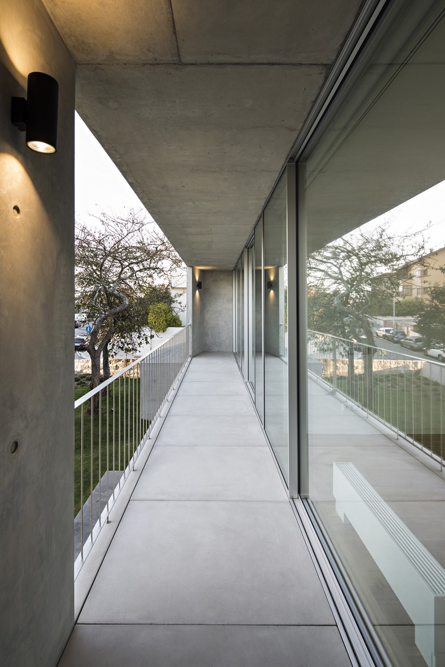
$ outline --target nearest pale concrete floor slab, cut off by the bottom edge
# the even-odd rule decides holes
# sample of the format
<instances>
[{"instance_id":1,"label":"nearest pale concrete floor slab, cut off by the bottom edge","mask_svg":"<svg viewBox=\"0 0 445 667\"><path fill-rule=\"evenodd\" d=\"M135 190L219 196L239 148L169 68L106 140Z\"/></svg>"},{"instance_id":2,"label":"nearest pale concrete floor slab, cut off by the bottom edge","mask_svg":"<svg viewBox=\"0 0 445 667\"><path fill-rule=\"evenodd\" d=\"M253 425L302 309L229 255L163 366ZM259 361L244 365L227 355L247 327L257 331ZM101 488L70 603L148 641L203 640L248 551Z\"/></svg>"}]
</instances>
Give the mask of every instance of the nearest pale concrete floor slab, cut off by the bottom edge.
<instances>
[{"instance_id":1,"label":"nearest pale concrete floor slab, cut off by the bottom edge","mask_svg":"<svg viewBox=\"0 0 445 667\"><path fill-rule=\"evenodd\" d=\"M77 625L59 667L347 667L332 626Z\"/></svg>"}]
</instances>

